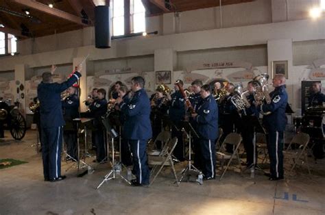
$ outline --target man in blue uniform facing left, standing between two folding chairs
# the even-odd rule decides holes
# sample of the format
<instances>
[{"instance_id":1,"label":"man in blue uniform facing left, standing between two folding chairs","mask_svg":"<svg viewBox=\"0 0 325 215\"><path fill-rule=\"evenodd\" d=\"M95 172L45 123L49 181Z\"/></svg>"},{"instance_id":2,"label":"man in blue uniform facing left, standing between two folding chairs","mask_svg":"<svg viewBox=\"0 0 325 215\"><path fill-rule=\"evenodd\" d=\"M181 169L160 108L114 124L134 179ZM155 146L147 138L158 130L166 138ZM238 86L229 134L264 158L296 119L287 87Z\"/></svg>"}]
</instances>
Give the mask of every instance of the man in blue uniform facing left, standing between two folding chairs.
<instances>
[{"instance_id":1,"label":"man in blue uniform facing left, standing between two folding chairs","mask_svg":"<svg viewBox=\"0 0 325 215\"><path fill-rule=\"evenodd\" d=\"M202 152L203 174L205 180L215 179L215 140L218 137L218 106L211 95L208 84L202 86L202 101L197 112L192 114L197 122L197 133L200 135Z\"/></svg>"}]
</instances>

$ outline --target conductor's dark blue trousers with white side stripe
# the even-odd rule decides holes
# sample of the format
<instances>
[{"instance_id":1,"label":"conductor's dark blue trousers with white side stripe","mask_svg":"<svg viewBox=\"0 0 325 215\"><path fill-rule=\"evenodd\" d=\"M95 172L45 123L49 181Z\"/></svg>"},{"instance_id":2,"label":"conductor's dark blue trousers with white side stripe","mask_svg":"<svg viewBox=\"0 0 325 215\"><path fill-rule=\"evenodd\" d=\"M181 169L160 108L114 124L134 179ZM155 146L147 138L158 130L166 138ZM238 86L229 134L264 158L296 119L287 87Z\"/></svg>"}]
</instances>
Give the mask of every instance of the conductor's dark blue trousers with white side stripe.
<instances>
[{"instance_id":1,"label":"conductor's dark blue trousers with white side stripe","mask_svg":"<svg viewBox=\"0 0 325 215\"><path fill-rule=\"evenodd\" d=\"M42 128L42 144L44 178L61 177L62 127Z\"/></svg>"}]
</instances>

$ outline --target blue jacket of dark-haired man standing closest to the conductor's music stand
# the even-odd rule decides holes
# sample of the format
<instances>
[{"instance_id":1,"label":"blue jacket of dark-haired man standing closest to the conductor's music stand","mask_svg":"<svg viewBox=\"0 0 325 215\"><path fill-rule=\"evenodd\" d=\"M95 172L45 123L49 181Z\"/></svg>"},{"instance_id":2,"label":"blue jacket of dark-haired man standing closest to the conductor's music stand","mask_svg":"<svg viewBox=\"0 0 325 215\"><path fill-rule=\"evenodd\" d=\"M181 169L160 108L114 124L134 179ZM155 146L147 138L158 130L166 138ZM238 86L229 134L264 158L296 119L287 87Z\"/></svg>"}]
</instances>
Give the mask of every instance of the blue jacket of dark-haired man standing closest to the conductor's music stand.
<instances>
[{"instance_id":1,"label":"blue jacket of dark-haired man standing closest to the conductor's music stand","mask_svg":"<svg viewBox=\"0 0 325 215\"><path fill-rule=\"evenodd\" d=\"M123 127L123 136L128 140L148 140L152 138L150 123L150 101L144 89L134 93L132 99L119 104L126 121Z\"/></svg>"}]
</instances>

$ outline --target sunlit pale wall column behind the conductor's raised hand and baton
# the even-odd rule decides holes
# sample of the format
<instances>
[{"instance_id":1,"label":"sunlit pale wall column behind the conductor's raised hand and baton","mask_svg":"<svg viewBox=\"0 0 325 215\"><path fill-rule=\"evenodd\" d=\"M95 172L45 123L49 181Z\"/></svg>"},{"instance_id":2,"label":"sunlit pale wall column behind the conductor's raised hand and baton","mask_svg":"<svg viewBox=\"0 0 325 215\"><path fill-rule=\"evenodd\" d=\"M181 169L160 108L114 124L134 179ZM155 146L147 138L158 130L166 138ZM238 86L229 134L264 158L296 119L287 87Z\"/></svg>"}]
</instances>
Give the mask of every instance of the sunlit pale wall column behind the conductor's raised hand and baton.
<instances>
[{"instance_id":1,"label":"sunlit pale wall column behind the conductor's raised hand and baton","mask_svg":"<svg viewBox=\"0 0 325 215\"><path fill-rule=\"evenodd\" d=\"M84 58L73 58L73 68L75 66L79 65ZM87 66L86 66L86 60L82 64L82 77L79 79L80 84L80 112L86 112L86 105L83 101L87 99Z\"/></svg>"}]
</instances>

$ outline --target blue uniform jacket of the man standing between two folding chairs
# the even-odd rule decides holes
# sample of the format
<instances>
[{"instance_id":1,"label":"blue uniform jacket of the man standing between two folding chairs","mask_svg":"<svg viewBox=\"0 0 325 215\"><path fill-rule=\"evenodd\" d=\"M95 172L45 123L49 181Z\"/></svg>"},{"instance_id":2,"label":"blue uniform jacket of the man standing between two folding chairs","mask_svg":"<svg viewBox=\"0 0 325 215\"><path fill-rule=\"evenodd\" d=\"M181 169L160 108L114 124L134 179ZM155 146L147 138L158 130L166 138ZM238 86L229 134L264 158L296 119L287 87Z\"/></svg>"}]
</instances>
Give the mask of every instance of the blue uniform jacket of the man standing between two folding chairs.
<instances>
[{"instance_id":1,"label":"blue uniform jacket of the man standing between two folding chairs","mask_svg":"<svg viewBox=\"0 0 325 215\"><path fill-rule=\"evenodd\" d=\"M197 108L197 132L201 138L216 140L218 137L218 106L212 95L202 100Z\"/></svg>"}]
</instances>

